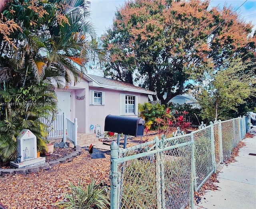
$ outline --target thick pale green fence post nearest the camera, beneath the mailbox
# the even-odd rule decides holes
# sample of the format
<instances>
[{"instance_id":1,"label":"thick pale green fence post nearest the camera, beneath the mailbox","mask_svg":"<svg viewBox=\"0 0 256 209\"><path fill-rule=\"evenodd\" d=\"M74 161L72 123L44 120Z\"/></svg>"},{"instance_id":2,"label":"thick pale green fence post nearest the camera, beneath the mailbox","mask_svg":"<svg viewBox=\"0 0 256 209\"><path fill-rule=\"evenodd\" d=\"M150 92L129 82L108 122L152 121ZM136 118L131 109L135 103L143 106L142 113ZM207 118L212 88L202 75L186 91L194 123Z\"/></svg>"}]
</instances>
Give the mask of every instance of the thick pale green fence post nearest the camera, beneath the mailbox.
<instances>
[{"instance_id":1,"label":"thick pale green fence post nearest the camera, beneath the mailbox","mask_svg":"<svg viewBox=\"0 0 256 209\"><path fill-rule=\"evenodd\" d=\"M118 145L112 142L110 146L110 209L118 208L118 166L113 160L118 158Z\"/></svg>"}]
</instances>

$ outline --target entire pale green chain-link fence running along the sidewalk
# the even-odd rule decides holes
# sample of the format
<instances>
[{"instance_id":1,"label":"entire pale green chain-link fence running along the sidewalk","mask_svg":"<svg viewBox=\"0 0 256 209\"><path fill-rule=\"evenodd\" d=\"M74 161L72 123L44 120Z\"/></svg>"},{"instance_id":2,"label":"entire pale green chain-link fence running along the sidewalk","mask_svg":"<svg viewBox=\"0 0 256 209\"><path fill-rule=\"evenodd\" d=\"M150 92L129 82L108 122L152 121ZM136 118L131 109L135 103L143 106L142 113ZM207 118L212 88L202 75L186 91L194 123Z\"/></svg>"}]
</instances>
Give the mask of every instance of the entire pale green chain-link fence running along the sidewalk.
<instances>
[{"instance_id":1,"label":"entire pale green chain-link fence running along the sidewalk","mask_svg":"<svg viewBox=\"0 0 256 209\"><path fill-rule=\"evenodd\" d=\"M244 121L244 117L218 121L190 134L156 136L125 149L113 142L110 208L193 209L194 191L244 138Z\"/></svg>"}]
</instances>

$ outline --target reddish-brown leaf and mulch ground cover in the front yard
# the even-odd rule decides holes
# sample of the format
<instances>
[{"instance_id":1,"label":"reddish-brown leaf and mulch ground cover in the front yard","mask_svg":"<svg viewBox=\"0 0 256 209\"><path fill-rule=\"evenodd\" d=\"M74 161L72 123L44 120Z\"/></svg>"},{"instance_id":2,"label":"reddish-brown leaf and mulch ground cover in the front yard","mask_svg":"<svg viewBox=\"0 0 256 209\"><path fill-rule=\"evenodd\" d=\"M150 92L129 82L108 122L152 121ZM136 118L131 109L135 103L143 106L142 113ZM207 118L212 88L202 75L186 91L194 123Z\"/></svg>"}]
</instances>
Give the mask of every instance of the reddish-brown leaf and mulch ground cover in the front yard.
<instances>
[{"instance_id":1,"label":"reddish-brown leaf and mulch ground cover in the front yard","mask_svg":"<svg viewBox=\"0 0 256 209\"><path fill-rule=\"evenodd\" d=\"M24 175L0 177L0 202L8 209L57 209L68 191L69 181L78 185L79 179L85 184L92 179L101 180L110 185L110 156L103 159L91 159L89 153L82 151L72 162L56 165L50 170Z\"/></svg>"}]
</instances>

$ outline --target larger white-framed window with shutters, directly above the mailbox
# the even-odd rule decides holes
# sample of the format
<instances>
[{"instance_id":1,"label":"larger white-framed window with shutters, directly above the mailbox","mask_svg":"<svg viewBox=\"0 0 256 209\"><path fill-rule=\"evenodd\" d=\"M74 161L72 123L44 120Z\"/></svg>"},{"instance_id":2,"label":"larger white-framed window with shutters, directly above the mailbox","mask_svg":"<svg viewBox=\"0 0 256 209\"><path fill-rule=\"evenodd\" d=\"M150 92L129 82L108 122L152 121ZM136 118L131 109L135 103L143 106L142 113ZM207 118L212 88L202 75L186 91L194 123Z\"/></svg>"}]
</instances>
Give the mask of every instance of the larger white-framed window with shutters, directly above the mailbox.
<instances>
[{"instance_id":1,"label":"larger white-framed window with shutters, directly above the mailbox","mask_svg":"<svg viewBox=\"0 0 256 209\"><path fill-rule=\"evenodd\" d=\"M138 97L120 94L120 115L137 115Z\"/></svg>"}]
</instances>

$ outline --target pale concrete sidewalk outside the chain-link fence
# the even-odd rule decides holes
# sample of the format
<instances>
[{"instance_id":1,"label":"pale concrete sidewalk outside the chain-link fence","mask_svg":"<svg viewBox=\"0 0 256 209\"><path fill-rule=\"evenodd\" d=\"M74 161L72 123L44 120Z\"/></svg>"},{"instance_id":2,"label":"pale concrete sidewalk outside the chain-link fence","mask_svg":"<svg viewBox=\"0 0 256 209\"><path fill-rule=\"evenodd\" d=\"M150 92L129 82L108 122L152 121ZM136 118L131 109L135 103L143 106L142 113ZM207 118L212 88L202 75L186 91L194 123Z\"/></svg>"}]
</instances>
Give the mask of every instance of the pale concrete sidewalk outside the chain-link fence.
<instances>
[{"instance_id":1,"label":"pale concrete sidewalk outside the chain-link fence","mask_svg":"<svg viewBox=\"0 0 256 209\"><path fill-rule=\"evenodd\" d=\"M250 130L256 134L256 126ZM237 162L219 167L217 191L206 191L195 209L255 209L256 208L256 136L242 140Z\"/></svg>"}]
</instances>

